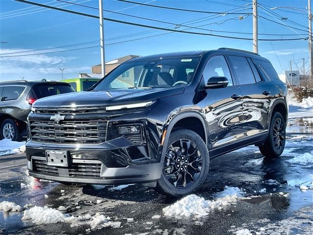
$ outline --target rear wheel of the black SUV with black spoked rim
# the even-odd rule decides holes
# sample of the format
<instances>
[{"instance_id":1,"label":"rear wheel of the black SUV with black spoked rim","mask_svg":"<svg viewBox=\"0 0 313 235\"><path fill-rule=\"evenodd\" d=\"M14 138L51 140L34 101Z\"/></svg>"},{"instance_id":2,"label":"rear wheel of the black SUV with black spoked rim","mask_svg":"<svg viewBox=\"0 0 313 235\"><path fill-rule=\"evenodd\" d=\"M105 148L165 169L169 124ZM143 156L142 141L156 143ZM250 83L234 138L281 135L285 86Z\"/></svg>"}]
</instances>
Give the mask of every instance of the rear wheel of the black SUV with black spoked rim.
<instances>
[{"instance_id":1,"label":"rear wheel of the black SUV with black spoked rim","mask_svg":"<svg viewBox=\"0 0 313 235\"><path fill-rule=\"evenodd\" d=\"M270 120L268 138L259 146L260 152L267 158L279 157L285 148L286 123L281 113L275 112Z\"/></svg>"}]
</instances>

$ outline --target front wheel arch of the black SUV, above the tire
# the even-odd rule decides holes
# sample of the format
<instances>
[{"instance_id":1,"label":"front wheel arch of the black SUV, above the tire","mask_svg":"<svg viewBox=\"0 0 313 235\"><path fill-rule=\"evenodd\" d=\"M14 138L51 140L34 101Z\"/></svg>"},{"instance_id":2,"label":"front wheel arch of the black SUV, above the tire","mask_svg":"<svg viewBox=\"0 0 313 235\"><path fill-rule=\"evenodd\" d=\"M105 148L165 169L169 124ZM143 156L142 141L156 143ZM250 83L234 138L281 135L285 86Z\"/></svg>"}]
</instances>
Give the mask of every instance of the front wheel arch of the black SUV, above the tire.
<instances>
[{"instance_id":1,"label":"front wheel arch of the black SUV, above the tire","mask_svg":"<svg viewBox=\"0 0 313 235\"><path fill-rule=\"evenodd\" d=\"M196 125L192 125L190 122L191 120L196 121ZM188 123L186 126L182 126L183 124ZM201 124L201 126L199 126ZM166 146L168 144L169 138L171 133L180 127L183 127L184 129L189 129L191 131L196 132L199 136L201 136L202 140L205 142L207 146L207 132L205 128L205 122L203 117L196 112L184 112L181 113L177 116L175 116L170 123L168 124L166 128L166 135L164 138L164 143L163 143L163 149L162 149L162 154L161 154L161 162L164 161L165 153L166 153Z\"/></svg>"}]
</instances>

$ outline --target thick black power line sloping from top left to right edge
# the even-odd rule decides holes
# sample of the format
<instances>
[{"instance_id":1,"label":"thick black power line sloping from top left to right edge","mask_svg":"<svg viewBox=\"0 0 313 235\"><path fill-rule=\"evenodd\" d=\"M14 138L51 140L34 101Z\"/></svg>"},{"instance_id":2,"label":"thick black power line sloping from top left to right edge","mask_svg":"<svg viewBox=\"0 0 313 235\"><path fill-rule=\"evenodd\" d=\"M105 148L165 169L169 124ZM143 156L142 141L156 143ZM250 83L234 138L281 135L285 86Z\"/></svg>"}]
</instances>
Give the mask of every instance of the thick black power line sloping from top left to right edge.
<instances>
[{"instance_id":1,"label":"thick black power line sloping from top left to right edge","mask_svg":"<svg viewBox=\"0 0 313 235\"><path fill-rule=\"evenodd\" d=\"M82 15L82 16L88 16L91 18L96 18L99 19L98 16L90 15L87 13L82 13L82 12L77 12L77 11L72 11L72 10L67 10L67 9L62 9L54 6L47 6L45 4L40 4L37 2L31 2L27 0L16 0L24 3L29 3L29 4L34 4L54 10L59 10L59 11L64 11L67 13L72 13L76 15ZM225 36L225 35L218 35L218 34L212 34L212 33L201 33L201 32L191 32L191 31L182 31L182 30L176 30L176 29L170 29L170 28L163 28L163 27L158 27L158 26L152 26L152 25L146 25L146 24L137 24L137 23L132 23L132 22L126 22L126 21L121 21L121 20L115 20L111 18L103 18L104 20L115 22L115 23L120 23L120 24L129 24L129 25L134 25L134 26L139 26L139 27L146 27L146 28L153 28L153 29L160 29L160 30L165 30L165 31L171 31L171 32L180 32L180 33L187 33L187 34L195 34L195 35L204 35L204 36L213 36L213 37L221 37L221 38L229 38L229 39L241 39L241 40L252 40L251 38L240 38L240 37L232 37L232 36ZM291 38L291 39L259 39L260 41L292 41L292 40L301 40L302 38Z\"/></svg>"}]
</instances>

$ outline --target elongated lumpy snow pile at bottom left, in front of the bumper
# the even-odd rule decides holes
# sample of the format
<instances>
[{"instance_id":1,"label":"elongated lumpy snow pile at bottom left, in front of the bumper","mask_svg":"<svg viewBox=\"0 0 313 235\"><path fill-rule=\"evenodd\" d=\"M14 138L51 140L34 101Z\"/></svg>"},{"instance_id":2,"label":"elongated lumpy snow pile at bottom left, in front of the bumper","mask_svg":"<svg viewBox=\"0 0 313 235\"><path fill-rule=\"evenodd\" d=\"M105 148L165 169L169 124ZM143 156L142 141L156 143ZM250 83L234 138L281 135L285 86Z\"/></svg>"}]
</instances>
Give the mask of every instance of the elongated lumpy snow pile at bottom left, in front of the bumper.
<instances>
[{"instance_id":1,"label":"elongated lumpy snow pile at bottom left, in front of the bumper","mask_svg":"<svg viewBox=\"0 0 313 235\"><path fill-rule=\"evenodd\" d=\"M24 211L22 220L31 219L34 224L55 224L58 222L70 223L70 227L89 225L91 230L104 227L118 228L121 222L112 222L110 217L96 213L94 216L86 214L84 216L70 216L61 211L48 207L33 207Z\"/></svg>"}]
</instances>

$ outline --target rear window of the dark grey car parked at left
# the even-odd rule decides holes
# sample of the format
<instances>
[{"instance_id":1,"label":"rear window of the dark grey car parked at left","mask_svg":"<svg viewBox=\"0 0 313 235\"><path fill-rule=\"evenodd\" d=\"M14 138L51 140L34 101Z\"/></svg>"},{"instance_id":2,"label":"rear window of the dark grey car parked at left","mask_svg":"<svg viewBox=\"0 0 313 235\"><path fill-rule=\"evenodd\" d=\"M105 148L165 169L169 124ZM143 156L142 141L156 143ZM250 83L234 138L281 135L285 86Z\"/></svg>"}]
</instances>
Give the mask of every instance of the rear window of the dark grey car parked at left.
<instances>
[{"instance_id":1,"label":"rear window of the dark grey car parked at left","mask_svg":"<svg viewBox=\"0 0 313 235\"><path fill-rule=\"evenodd\" d=\"M38 84L33 86L33 91L37 99L56 95L73 92L72 88L69 85L60 85L60 84Z\"/></svg>"}]
</instances>

